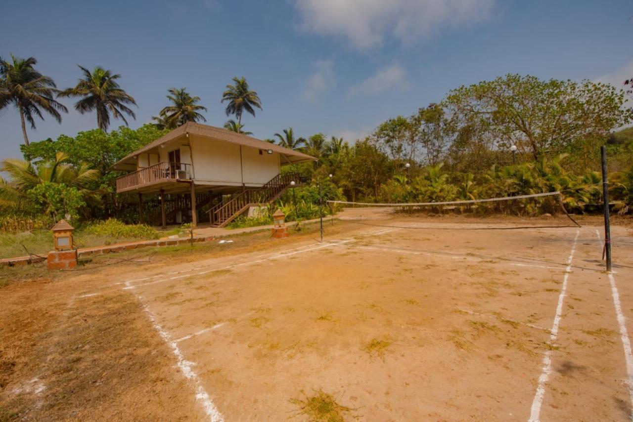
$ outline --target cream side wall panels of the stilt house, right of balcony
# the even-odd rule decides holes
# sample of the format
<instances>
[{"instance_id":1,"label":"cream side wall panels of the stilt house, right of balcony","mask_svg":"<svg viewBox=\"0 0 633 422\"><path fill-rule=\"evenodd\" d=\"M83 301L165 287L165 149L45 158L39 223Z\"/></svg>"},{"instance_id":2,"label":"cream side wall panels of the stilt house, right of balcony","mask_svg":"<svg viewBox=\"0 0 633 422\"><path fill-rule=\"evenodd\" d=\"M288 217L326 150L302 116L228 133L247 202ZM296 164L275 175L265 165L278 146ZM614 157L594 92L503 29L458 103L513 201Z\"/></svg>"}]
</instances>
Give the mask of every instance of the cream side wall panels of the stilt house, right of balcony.
<instances>
[{"instance_id":1,"label":"cream side wall panels of the stilt house, right of balcony","mask_svg":"<svg viewBox=\"0 0 633 422\"><path fill-rule=\"evenodd\" d=\"M260 155L259 149L240 146L222 140L189 135L194 157L196 182L213 185L263 185L279 174L279 154ZM182 158L182 151L180 152Z\"/></svg>"}]
</instances>

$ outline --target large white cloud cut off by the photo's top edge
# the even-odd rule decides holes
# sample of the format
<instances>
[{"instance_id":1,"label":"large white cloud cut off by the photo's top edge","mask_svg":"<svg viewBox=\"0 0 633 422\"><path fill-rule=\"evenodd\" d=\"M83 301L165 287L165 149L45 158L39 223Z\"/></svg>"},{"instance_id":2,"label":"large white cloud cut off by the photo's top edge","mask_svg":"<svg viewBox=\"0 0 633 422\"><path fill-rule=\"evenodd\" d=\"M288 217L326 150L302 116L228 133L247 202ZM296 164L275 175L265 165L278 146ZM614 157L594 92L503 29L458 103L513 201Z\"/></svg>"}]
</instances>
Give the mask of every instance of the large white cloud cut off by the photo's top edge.
<instances>
[{"instance_id":1,"label":"large white cloud cut off by the photo's top edge","mask_svg":"<svg viewBox=\"0 0 633 422\"><path fill-rule=\"evenodd\" d=\"M365 50L385 37L405 43L442 28L467 27L486 20L496 0L294 0L300 27L319 35L343 36Z\"/></svg>"}]
</instances>

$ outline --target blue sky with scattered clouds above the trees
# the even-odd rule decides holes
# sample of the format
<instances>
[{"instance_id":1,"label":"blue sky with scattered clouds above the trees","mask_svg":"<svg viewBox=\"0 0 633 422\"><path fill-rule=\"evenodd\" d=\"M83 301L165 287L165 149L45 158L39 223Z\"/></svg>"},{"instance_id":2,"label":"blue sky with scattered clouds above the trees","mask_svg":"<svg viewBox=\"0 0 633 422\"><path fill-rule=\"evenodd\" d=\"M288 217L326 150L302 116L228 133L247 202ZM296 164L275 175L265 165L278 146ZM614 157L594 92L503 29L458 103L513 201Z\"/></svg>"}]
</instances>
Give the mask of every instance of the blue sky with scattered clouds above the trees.
<instances>
[{"instance_id":1,"label":"blue sky with scattered clouds above the trees","mask_svg":"<svg viewBox=\"0 0 633 422\"><path fill-rule=\"evenodd\" d=\"M206 123L222 127L225 85L244 76L263 105L242 117L255 137L292 127L353 142L506 73L622 87L633 77L632 16L633 0L10 2L0 56L36 58L60 89L77 83L77 65L119 73L138 104L132 128L158 115L171 87L201 97ZM96 128L96 115L80 115L74 101L61 101L61 124L37 120L29 139ZM18 112L0 110L0 159L20 158L22 143Z\"/></svg>"}]
</instances>

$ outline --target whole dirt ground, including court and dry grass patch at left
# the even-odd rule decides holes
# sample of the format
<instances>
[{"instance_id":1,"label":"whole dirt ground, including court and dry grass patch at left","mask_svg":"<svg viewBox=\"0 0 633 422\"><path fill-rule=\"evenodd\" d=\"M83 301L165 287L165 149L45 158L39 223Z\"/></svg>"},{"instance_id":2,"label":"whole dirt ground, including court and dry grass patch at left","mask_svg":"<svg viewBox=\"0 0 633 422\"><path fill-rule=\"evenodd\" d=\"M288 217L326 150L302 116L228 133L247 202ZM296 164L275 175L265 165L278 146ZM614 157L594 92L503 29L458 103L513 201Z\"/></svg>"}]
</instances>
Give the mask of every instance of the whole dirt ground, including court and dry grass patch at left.
<instances>
[{"instance_id":1,"label":"whole dirt ground, including court and dry grass patch at left","mask_svg":"<svg viewBox=\"0 0 633 422\"><path fill-rule=\"evenodd\" d=\"M633 231L608 275L580 223L356 209L4 271L0 420L630 419Z\"/></svg>"}]
</instances>

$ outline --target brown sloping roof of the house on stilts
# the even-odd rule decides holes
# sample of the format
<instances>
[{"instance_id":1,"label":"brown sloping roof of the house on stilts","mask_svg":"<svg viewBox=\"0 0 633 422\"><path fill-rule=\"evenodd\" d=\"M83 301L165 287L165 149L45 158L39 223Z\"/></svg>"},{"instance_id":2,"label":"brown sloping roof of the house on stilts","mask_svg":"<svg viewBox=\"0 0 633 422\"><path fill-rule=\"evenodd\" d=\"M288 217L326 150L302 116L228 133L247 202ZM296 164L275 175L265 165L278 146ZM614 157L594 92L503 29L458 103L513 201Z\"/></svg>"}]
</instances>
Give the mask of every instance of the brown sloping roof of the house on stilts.
<instances>
[{"instance_id":1,"label":"brown sloping roof of the house on stilts","mask_svg":"<svg viewBox=\"0 0 633 422\"><path fill-rule=\"evenodd\" d=\"M150 142L141 149L137 149L131 154L128 154L125 158L117 161L112 166L112 168L114 168L115 170L128 170L125 167L125 164L130 164L132 162L135 164L135 156L137 156L138 154L142 154L143 152L154 149L161 144L164 144L165 142L184 135L185 133L191 133L192 135L223 140L225 142L230 142L232 144L242 145L246 147L253 147L257 149L272 149L273 151L282 154L290 163L316 161L316 158L314 158L313 156L309 156L308 154L304 154L303 152L294 151L294 149L284 148L277 144L271 144L270 142L244 135L243 133L232 132L231 130L226 130L215 126L202 125L201 123L194 123L192 121L189 121L184 125L175 128L174 130L172 130L172 132L166 133L166 135L163 135L162 137Z\"/></svg>"}]
</instances>

